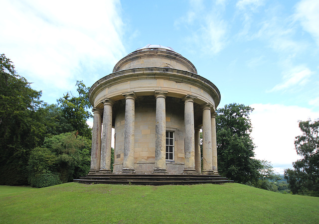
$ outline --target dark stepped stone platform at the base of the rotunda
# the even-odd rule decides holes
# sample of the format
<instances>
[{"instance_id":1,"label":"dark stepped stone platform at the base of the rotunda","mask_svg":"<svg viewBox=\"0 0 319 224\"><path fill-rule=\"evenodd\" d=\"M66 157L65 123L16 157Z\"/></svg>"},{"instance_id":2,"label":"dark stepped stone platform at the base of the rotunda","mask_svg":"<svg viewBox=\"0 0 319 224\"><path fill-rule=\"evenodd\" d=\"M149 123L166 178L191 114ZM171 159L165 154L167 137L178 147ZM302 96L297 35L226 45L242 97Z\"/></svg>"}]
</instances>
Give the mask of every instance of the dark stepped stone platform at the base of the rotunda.
<instances>
[{"instance_id":1,"label":"dark stepped stone platform at the base of the rotunda","mask_svg":"<svg viewBox=\"0 0 319 224\"><path fill-rule=\"evenodd\" d=\"M88 174L74 179L82 184L191 185L233 183L219 175Z\"/></svg>"}]
</instances>

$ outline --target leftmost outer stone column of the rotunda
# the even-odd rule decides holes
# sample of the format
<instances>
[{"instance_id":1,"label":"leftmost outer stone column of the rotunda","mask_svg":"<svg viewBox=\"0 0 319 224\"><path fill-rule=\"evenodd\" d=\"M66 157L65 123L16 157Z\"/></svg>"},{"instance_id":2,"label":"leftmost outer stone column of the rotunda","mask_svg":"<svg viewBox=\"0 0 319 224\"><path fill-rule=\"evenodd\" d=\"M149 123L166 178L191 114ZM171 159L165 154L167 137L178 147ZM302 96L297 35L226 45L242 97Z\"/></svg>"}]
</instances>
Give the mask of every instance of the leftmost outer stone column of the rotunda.
<instances>
[{"instance_id":1,"label":"leftmost outer stone column of the rotunda","mask_svg":"<svg viewBox=\"0 0 319 224\"><path fill-rule=\"evenodd\" d=\"M101 161L101 129L102 129L102 111L94 108L93 110L93 133L91 150L91 169L90 173L100 170Z\"/></svg>"}]
</instances>

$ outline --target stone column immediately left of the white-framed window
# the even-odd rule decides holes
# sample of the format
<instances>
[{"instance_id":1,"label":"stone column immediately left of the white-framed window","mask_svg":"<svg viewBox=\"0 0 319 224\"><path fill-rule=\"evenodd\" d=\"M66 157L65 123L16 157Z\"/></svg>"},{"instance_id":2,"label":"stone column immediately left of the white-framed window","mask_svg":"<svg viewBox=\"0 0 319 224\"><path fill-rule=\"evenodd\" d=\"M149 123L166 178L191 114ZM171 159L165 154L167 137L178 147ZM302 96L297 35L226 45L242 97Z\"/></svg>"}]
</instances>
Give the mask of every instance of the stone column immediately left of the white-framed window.
<instances>
[{"instance_id":1,"label":"stone column immediately left of the white-framed window","mask_svg":"<svg viewBox=\"0 0 319 224\"><path fill-rule=\"evenodd\" d=\"M165 98L167 92L155 91L156 119L155 119L155 168L154 173L166 173L166 112Z\"/></svg>"}]
</instances>

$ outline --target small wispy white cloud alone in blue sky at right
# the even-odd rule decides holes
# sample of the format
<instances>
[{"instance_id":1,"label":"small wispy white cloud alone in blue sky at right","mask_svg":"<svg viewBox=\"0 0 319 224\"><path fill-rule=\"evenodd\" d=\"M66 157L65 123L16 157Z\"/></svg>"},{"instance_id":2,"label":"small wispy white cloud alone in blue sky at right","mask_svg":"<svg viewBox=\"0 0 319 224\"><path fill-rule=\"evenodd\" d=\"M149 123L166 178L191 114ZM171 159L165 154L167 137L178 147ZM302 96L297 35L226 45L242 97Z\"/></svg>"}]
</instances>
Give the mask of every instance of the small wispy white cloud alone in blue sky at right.
<instances>
[{"instance_id":1,"label":"small wispy white cloud alone in blue sky at right","mask_svg":"<svg viewBox=\"0 0 319 224\"><path fill-rule=\"evenodd\" d=\"M284 82L276 85L269 92L288 90L289 88L296 86L303 86L309 82L310 76L314 74L309 68L305 66L296 66L283 75Z\"/></svg>"}]
</instances>

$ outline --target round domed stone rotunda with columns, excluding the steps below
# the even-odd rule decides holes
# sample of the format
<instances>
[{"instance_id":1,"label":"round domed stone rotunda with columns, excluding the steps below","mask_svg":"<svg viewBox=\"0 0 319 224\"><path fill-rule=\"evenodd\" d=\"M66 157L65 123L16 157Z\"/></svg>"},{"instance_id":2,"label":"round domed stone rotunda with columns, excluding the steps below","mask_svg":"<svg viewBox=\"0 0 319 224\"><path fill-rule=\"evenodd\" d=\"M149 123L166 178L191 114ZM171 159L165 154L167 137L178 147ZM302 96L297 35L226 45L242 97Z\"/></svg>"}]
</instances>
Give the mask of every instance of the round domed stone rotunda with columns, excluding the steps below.
<instances>
[{"instance_id":1,"label":"round domed stone rotunda with columns, excluding the steps below","mask_svg":"<svg viewBox=\"0 0 319 224\"><path fill-rule=\"evenodd\" d=\"M94 108L89 175L112 173L111 165L113 174L123 175L218 175L220 93L172 48L149 44L127 55L91 87L89 99Z\"/></svg>"}]
</instances>

